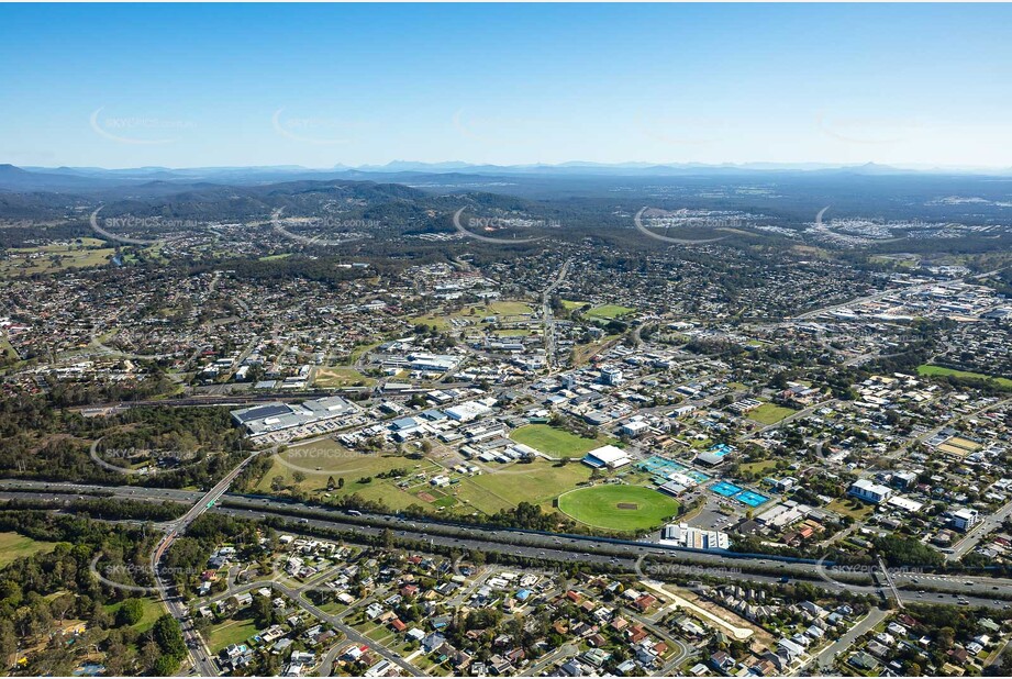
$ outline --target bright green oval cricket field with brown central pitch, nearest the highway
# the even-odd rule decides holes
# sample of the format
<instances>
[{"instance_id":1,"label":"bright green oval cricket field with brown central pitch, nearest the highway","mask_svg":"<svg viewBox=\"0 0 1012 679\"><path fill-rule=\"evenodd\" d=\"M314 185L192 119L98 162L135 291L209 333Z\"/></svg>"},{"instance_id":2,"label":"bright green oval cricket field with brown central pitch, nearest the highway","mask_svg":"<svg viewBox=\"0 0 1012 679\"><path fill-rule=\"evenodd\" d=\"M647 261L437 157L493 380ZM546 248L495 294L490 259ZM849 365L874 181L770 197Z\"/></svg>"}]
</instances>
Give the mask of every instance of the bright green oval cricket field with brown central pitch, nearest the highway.
<instances>
[{"instance_id":1,"label":"bright green oval cricket field with brown central pitch, nearest the highway","mask_svg":"<svg viewBox=\"0 0 1012 679\"><path fill-rule=\"evenodd\" d=\"M565 514L598 528L641 532L678 513L678 502L643 486L594 486L560 496Z\"/></svg>"}]
</instances>

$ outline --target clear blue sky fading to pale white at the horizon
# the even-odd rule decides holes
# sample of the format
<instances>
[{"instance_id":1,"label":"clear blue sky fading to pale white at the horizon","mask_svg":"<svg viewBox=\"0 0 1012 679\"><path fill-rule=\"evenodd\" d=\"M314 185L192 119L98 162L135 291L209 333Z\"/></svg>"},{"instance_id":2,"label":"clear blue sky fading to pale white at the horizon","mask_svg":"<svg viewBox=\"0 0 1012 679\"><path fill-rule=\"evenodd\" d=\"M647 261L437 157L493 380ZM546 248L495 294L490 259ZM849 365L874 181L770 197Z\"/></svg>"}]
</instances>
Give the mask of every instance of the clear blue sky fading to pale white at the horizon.
<instances>
[{"instance_id":1,"label":"clear blue sky fading to pale white at the horizon","mask_svg":"<svg viewBox=\"0 0 1012 679\"><path fill-rule=\"evenodd\" d=\"M0 5L0 163L1012 166L1010 5Z\"/></svg>"}]
</instances>

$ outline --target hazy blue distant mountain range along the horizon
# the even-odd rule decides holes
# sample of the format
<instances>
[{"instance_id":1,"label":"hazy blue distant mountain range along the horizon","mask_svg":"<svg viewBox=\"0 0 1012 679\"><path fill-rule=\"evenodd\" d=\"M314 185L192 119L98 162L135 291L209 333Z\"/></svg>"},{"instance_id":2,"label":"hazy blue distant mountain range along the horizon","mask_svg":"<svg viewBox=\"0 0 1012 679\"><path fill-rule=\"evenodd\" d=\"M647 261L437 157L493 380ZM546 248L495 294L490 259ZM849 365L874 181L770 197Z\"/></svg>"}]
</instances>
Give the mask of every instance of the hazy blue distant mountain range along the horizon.
<instances>
[{"instance_id":1,"label":"hazy blue distant mountain range along the horizon","mask_svg":"<svg viewBox=\"0 0 1012 679\"><path fill-rule=\"evenodd\" d=\"M363 165L348 167L336 165L327 169L314 169L292 165L260 167L137 167L129 169L103 169L99 167L15 167L0 165L0 191L34 192L53 191L66 193L89 193L114 190L115 192L159 193L207 185L256 186L279 181L359 179L394 182L466 181L481 178L575 179L632 178L632 177L705 177L705 176L881 176L881 175L979 175L1009 176L1012 168L1000 170L972 169L909 169L877 165L825 165L825 164L777 164L746 163L741 165L649 164L649 163L586 163L571 162L559 165L472 165L460 162L416 163L394 160L387 165Z\"/></svg>"}]
</instances>

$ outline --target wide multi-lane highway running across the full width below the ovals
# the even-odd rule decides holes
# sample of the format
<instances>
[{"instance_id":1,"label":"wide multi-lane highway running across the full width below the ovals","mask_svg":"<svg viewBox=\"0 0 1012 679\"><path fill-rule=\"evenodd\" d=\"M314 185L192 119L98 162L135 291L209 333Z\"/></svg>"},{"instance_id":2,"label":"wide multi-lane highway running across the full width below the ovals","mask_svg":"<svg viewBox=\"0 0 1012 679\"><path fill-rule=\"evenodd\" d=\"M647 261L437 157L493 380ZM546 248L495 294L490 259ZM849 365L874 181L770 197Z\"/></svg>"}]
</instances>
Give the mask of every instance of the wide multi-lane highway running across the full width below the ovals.
<instances>
[{"instance_id":1,"label":"wide multi-lane highway running across the full width below the ovals","mask_svg":"<svg viewBox=\"0 0 1012 679\"><path fill-rule=\"evenodd\" d=\"M60 490L84 494L112 493L113 497L130 498L154 502L177 501L192 504L203 497L199 492L149 489L140 487L103 487L80 483L44 483L40 481L4 480L0 481L0 498L35 498L46 500L66 500L65 494L46 492ZM218 488L218 487L215 487ZM20 489L13 491L12 489ZM27 492L25 492L27 491ZM365 514L363 516L348 516L336 509L310 507L297 502L286 502L269 498L247 497L240 494L224 496L224 501L230 507L214 507L210 511L226 513L246 519L260 520L276 516L291 522L291 530L298 532L300 526L331 530L351 531L362 535L379 535L385 528L390 530L396 536L418 541L431 542L457 549L481 549L500 554L512 554L530 558L540 558L552 561L571 563L575 558L583 563L597 563L621 567L627 570L636 568L637 560L646 556L661 557L658 560L679 560L697 566L714 567L715 576L726 575L727 568L741 570L737 576L741 580L759 582L776 582L780 578L799 578L830 591L849 589L856 592L883 595L880 588L870 583L852 585L834 581L828 578L832 571L815 564L790 564L777 557L735 557L733 554L703 553L685 549L663 547L646 542L623 542L613 544L592 536L567 536L541 534L530 531L515 531L505 528L490 528L488 526L472 526L468 524L454 524L444 522L423 522L418 520L398 519L385 514ZM201 503L194 507L188 515L198 511ZM203 507L207 510L205 507ZM313 517L298 517L289 515L291 512L314 512ZM192 516L196 517L196 516ZM192 517L190 520L192 520ZM184 520L178 520L168 525L167 530L179 530ZM1012 592L1012 580L988 577L945 576L919 574L916 577L893 575L897 582L897 592L907 603L948 603L958 604L965 598L974 605L989 608L1010 608L1012 602L997 601L993 597L999 592ZM830 581L827 581L830 580ZM967 586L965 582L971 582ZM931 588L938 592L920 591L921 588Z\"/></svg>"}]
</instances>

